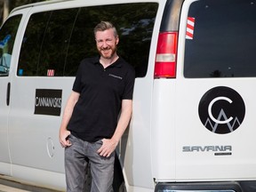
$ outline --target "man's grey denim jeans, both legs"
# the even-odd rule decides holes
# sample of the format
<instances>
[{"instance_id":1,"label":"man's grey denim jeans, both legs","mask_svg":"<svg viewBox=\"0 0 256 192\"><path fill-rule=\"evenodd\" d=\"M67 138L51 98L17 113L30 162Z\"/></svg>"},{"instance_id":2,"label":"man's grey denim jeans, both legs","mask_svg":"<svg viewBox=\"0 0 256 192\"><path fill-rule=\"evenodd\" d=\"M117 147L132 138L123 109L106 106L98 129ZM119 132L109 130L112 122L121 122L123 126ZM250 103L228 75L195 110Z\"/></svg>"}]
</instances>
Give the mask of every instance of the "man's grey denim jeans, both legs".
<instances>
[{"instance_id":1,"label":"man's grey denim jeans, both legs","mask_svg":"<svg viewBox=\"0 0 256 192\"><path fill-rule=\"evenodd\" d=\"M100 156L97 150L102 141L90 143L70 135L72 145L65 148L65 171L67 192L89 192L86 189L86 170L91 167L91 192L112 192L115 153L109 157Z\"/></svg>"}]
</instances>

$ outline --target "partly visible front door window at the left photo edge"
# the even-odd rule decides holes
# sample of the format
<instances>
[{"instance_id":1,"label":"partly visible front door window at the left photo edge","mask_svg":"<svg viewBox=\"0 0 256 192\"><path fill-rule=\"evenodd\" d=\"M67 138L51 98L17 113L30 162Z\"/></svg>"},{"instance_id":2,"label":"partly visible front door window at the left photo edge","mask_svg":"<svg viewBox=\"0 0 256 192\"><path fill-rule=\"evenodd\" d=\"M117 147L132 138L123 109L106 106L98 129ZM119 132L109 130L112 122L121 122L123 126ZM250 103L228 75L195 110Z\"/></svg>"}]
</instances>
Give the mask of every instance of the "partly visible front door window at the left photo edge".
<instances>
[{"instance_id":1,"label":"partly visible front door window at the left photo edge","mask_svg":"<svg viewBox=\"0 0 256 192\"><path fill-rule=\"evenodd\" d=\"M20 25L21 15L13 16L4 22L0 30L0 76L8 76L12 59L12 48L17 30Z\"/></svg>"}]
</instances>

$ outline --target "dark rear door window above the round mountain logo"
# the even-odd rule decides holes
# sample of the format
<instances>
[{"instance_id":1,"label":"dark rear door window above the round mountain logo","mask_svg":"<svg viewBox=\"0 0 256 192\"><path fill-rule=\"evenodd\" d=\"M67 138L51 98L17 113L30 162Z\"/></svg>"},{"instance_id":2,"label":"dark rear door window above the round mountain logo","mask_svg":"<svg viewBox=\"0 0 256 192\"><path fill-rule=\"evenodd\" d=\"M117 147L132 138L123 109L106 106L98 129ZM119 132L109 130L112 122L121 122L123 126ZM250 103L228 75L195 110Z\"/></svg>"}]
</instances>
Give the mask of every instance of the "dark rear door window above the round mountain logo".
<instances>
[{"instance_id":1,"label":"dark rear door window above the round mountain logo","mask_svg":"<svg viewBox=\"0 0 256 192\"><path fill-rule=\"evenodd\" d=\"M188 20L194 28L186 37L184 76L256 76L255 12L256 4L249 0L191 4Z\"/></svg>"}]
</instances>

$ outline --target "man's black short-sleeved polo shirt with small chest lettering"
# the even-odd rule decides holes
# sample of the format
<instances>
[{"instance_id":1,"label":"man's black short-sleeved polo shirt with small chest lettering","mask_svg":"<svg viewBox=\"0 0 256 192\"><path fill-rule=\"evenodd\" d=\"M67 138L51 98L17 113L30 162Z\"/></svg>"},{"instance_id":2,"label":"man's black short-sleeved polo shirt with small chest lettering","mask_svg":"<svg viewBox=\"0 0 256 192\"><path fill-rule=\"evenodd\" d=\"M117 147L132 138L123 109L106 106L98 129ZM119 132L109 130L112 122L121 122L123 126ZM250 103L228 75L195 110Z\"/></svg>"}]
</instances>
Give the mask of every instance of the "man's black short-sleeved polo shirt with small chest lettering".
<instances>
[{"instance_id":1,"label":"man's black short-sleeved polo shirt with small chest lettering","mask_svg":"<svg viewBox=\"0 0 256 192\"><path fill-rule=\"evenodd\" d=\"M134 69L122 58L103 68L100 58L82 60L73 85L79 92L68 130L77 138L94 142L110 139L122 100L132 100Z\"/></svg>"}]
</instances>

